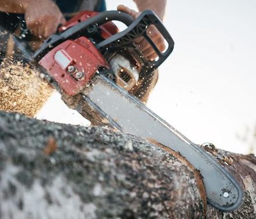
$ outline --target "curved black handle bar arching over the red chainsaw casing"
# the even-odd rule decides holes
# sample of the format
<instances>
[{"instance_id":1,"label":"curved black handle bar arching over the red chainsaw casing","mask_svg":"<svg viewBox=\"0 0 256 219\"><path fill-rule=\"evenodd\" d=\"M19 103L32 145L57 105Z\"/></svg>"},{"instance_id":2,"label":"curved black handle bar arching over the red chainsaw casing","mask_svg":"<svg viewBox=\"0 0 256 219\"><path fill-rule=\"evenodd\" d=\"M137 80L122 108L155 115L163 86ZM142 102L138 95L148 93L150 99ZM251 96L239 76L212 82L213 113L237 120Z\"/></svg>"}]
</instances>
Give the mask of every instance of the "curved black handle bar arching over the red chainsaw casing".
<instances>
[{"instance_id":1,"label":"curved black handle bar arching over the red chainsaw casing","mask_svg":"<svg viewBox=\"0 0 256 219\"><path fill-rule=\"evenodd\" d=\"M100 26L112 20L120 21L127 26L134 21L133 17L125 12L119 12L117 10L101 12L86 21L70 27L61 34L51 35L44 43L42 43L40 48L34 53L33 57L31 57L31 60L39 61L45 54L49 52L49 50L55 46L58 46L67 39L76 39L83 35L86 36L88 35L88 32L90 32L89 29L91 27L94 27L95 25Z\"/></svg>"}]
</instances>

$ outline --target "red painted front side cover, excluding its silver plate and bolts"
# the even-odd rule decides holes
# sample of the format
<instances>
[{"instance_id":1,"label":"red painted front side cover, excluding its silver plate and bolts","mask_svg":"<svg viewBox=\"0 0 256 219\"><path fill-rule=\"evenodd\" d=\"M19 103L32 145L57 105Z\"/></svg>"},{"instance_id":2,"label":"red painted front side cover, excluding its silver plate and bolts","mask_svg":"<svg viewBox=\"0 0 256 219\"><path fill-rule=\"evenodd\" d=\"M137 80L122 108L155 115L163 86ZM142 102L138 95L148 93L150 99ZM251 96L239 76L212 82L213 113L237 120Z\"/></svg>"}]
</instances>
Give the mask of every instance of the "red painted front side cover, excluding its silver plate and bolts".
<instances>
[{"instance_id":1,"label":"red painted front side cover, excluding its silver plate and bolts","mask_svg":"<svg viewBox=\"0 0 256 219\"><path fill-rule=\"evenodd\" d=\"M54 55L58 50L65 52L72 58L72 63L77 71L84 73L84 79L77 81L67 69L63 70L54 60ZM109 68L102 54L95 48L93 43L84 36L72 40L67 40L47 53L40 61L48 74L58 82L59 86L71 96L81 92L91 77L97 72L99 67Z\"/></svg>"}]
</instances>

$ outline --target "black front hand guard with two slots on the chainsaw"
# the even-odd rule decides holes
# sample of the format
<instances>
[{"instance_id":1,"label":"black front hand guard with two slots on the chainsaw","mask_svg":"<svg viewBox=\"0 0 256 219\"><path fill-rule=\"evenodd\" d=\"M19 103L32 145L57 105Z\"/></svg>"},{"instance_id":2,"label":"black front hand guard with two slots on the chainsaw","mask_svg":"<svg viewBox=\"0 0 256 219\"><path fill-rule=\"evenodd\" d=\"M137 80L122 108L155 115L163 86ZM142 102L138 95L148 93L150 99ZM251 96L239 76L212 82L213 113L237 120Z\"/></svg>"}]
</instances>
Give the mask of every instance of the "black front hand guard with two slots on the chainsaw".
<instances>
[{"instance_id":1,"label":"black front hand guard with two slots on the chainsaw","mask_svg":"<svg viewBox=\"0 0 256 219\"><path fill-rule=\"evenodd\" d=\"M165 45L166 49L163 52L159 50L157 45L155 45L154 41L152 41L150 36L147 34L151 25L154 25L158 29L163 39L167 42ZM155 50L155 53L158 55L157 60L148 60L144 57L145 54L140 51L139 46L134 42L139 37L144 37L152 49ZM174 42L172 36L170 36L157 14L152 10L144 10L125 30L98 43L96 47L102 53L104 53L105 50L120 52L121 50L127 50L130 48L132 51L131 53L136 56L136 59L140 60L140 63L143 63L140 71L140 75L143 77L150 75L152 71L156 70L159 65L167 59L170 53L172 53Z\"/></svg>"}]
</instances>

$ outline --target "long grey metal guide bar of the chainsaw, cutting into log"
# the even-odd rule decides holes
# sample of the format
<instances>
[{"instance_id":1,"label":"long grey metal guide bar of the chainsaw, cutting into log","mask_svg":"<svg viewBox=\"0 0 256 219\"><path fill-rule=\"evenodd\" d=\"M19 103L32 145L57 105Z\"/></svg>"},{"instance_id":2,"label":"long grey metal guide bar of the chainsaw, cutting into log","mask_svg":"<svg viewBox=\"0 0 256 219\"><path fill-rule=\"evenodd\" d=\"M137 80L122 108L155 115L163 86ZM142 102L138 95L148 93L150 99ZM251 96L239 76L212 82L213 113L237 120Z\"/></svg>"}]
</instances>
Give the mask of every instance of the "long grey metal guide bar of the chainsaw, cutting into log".
<instances>
[{"instance_id":1,"label":"long grey metal guide bar of the chainsaw, cutting into log","mask_svg":"<svg viewBox=\"0 0 256 219\"><path fill-rule=\"evenodd\" d=\"M208 203L212 206L229 211L240 205L240 185L214 157L104 75L95 76L93 83L93 89L86 94L87 102L101 112L111 126L134 136L154 139L174 151L179 151L200 170Z\"/></svg>"}]
</instances>

